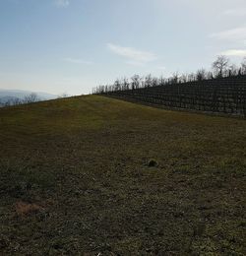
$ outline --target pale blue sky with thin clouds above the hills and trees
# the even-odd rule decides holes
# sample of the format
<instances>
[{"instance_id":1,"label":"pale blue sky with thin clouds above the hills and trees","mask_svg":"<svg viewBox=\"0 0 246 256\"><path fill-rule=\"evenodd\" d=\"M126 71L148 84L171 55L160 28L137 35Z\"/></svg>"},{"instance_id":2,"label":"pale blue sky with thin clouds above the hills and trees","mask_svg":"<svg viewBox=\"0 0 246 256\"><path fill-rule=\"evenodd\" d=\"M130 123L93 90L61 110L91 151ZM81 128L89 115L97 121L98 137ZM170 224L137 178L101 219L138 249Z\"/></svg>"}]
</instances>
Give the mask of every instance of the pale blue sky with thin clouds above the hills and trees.
<instances>
[{"instance_id":1,"label":"pale blue sky with thin clouds above the hills and trees","mask_svg":"<svg viewBox=\"0 0 246 256\"><path fill-rule=\"evenodd\" d=\"M0 0L0 89L82 95L246 56L246 0Z\"/></svg>"}]
</instances>

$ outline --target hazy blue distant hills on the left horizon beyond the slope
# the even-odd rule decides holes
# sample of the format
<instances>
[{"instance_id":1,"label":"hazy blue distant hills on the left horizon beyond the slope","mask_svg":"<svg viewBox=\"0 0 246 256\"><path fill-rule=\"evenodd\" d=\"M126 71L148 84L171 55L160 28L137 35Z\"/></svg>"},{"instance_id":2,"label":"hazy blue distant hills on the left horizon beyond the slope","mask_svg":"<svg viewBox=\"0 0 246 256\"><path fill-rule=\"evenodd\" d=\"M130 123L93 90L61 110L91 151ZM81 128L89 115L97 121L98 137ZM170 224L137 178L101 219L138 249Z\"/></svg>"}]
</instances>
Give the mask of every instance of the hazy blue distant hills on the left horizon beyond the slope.
<instances>
[{"instance_id":1,"label":"hazy blue distant hills on the left horizon beyond the slope","mask_svg":"<svg viewBox=\"0 0 246 256\"><path fill-rule=\"evenodd\" d=\"M10 100L21 99L23 100L26 96L30 96L31 94L35 94L39 100L48 100L56 98L55 95L50 95L46 93L34 93L31 91L23 91L23 90L4 90L0 89L0 104L4 104Z\"/></svg>"}]
</instances>

